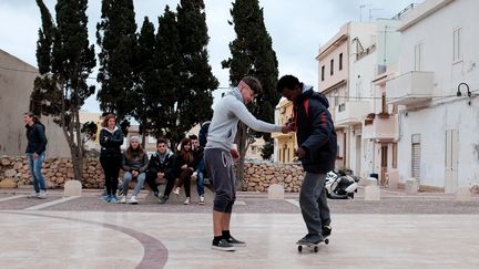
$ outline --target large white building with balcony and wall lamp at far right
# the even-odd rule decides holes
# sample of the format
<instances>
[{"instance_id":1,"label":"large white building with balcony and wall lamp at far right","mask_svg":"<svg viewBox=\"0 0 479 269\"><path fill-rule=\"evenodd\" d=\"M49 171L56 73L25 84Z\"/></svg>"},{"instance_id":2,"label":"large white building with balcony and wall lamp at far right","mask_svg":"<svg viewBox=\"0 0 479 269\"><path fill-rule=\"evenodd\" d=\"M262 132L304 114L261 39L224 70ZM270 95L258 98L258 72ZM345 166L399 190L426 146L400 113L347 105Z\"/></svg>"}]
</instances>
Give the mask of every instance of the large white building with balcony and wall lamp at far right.
<instances>
[{"instance_id":1,"label":"large white building with balcony and wall lamp at far right","mask_svg":"<svg viewBox=\"0 0 479 269\"><path fill-rule=\"evenodd\" d=\"M479 183L477 11L476 0L427 0L401 22L399 75L386 92L399 105L402 182L446 193Z\"/></svg>"}]
</instances>

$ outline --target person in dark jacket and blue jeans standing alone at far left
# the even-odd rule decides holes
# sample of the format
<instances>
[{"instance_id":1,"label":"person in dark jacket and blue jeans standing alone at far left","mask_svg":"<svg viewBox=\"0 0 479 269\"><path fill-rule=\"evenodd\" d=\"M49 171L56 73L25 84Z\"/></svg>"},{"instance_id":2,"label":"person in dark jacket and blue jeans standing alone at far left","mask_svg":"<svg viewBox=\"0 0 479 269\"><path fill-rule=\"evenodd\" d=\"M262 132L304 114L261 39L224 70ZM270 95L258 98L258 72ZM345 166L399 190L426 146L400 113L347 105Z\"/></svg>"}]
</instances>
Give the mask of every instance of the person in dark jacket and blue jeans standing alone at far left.
<instances>
[{"instance_id":1,"label":"person in dark jacket and blue jeans standing alone at far left","mask_svg":"<svg viewBox=\"0 0 479 269\"><path fill-rule=\"evenodd\" d=\"M33 183L34 193L29 198L47 198L47 185L41 173L43 161L45 158L47 136L45 127L33 113L24 113L23 122L27 128L27 161L30 167L30 174Z\"/></svg>"}]
</instances>

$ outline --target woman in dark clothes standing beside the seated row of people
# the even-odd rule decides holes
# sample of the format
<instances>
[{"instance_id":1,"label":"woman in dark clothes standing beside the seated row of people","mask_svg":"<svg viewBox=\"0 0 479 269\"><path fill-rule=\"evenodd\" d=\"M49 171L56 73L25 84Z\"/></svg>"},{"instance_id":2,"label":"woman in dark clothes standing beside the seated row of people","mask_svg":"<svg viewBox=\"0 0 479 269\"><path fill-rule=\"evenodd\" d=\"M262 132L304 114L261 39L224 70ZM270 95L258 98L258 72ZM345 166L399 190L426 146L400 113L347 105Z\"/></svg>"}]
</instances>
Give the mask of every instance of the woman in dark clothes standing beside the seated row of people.
<instances>
[{"instance_id":1,"label":"woman in dark clothes standing beside the seated row of people","mask_svg":"<svg viewBox=\"0 0 479 269\"><path fill-rule=\"evenodd\" d=\"M103 167L106 186L108 203L119 203L116 197L118 179L122 164L121 145L123 144L123 133L116 126L116 118L113 114L108 114L103 118L102 130L100 131L100 163Z\"/></svg>"}]
</instances>

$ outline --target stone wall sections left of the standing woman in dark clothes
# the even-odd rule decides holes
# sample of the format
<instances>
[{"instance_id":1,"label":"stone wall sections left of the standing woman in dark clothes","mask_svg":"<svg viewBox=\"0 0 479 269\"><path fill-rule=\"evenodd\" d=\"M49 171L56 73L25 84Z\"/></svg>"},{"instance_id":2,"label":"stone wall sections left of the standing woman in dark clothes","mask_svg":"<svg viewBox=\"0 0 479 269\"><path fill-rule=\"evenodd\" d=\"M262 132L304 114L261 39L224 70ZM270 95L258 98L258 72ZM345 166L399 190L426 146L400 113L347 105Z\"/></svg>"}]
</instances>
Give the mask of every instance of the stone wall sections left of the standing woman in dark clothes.
<instances>
[{"instance_id":1,"label":"stone wall sections left of the standing woman in dark clothes","mask_svg":"<svg viewBox=\"0 0 479 269\"><path fill-rule=\"evenodd\" d=\"M63 187L67 180L74 178L73 164L70 158L45 159L42 173L48 188ZM84 188L103 188L104 175L99 159L85 159L82 173ZM17 188L24 185L31 185L27 158L2 156L0 161L0 188Z\"/></svg>"}]
</instances>

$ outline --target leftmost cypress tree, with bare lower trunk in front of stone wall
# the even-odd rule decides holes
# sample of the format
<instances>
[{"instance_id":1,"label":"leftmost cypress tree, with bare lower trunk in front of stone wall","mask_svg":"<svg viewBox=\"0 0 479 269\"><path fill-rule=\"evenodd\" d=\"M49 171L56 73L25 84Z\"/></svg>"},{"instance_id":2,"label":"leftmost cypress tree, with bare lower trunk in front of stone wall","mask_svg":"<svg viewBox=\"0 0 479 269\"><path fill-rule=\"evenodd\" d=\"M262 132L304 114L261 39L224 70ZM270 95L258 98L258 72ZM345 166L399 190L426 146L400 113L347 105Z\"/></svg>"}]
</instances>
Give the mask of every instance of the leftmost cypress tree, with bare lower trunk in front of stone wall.
<instances>
[{"instance_id":1,"label":"leftmost cypress tree, with bare lower trunk in front of stone wall","mask_svg":"<svg viewBox=\"0 0 479 269\"><path fill-rule=\"evenodd\" d=\"M57 23L42 0L37 0L42 17L37 43L41 76L34 81L31 110L50 115L62 127L73 162L74 177L82 180L85 151L79 111L94 93L86 79L95 66L94 46L89 44L86 0L58 0Z\"/></svg>"}]
</instances>

